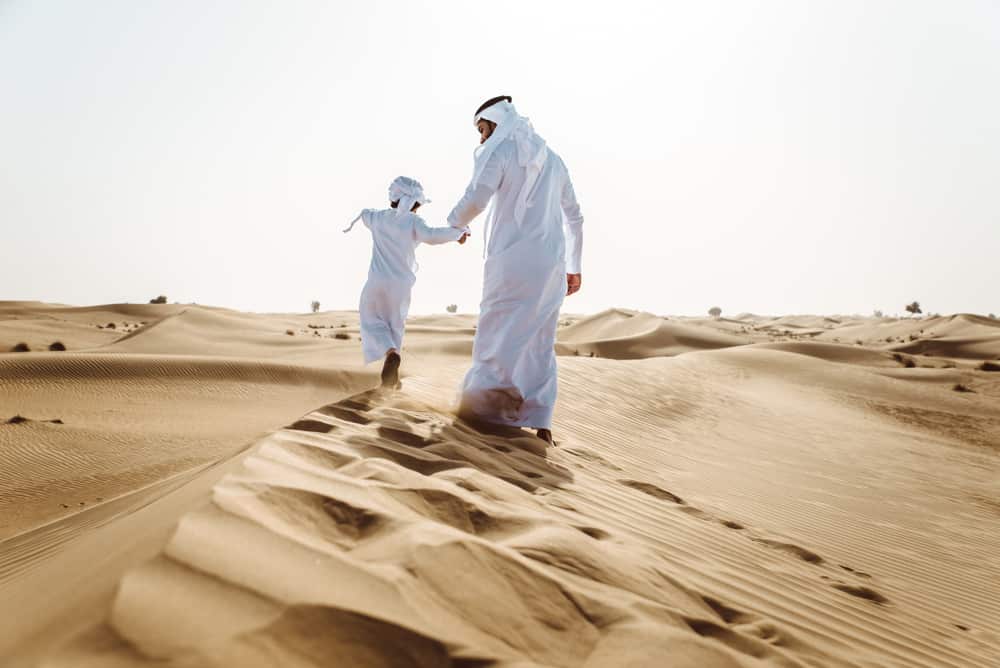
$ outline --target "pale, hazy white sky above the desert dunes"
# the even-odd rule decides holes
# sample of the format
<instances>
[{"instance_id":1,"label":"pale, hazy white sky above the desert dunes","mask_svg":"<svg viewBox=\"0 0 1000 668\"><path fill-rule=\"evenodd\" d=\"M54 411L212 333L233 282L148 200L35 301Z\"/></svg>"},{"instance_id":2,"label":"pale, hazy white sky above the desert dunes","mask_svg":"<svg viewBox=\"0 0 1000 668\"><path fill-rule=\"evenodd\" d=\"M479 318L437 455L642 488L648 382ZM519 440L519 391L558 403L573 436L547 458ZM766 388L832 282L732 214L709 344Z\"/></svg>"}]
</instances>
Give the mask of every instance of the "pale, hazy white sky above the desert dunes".
<instances>
[{"instance_id":1,"label":"pale, hazy white sky above the desert dunes","mask_svg":"<svg viewBox=\"0 0 1000 668\"><path fill-rule=\"evenodd\" d=\"M564 310L1000 313L1000 3L0 0L0 299L356 308L494 95L570 169ZM481 220L411 313L478 310Z\"/></svg>"}]
</instances>

